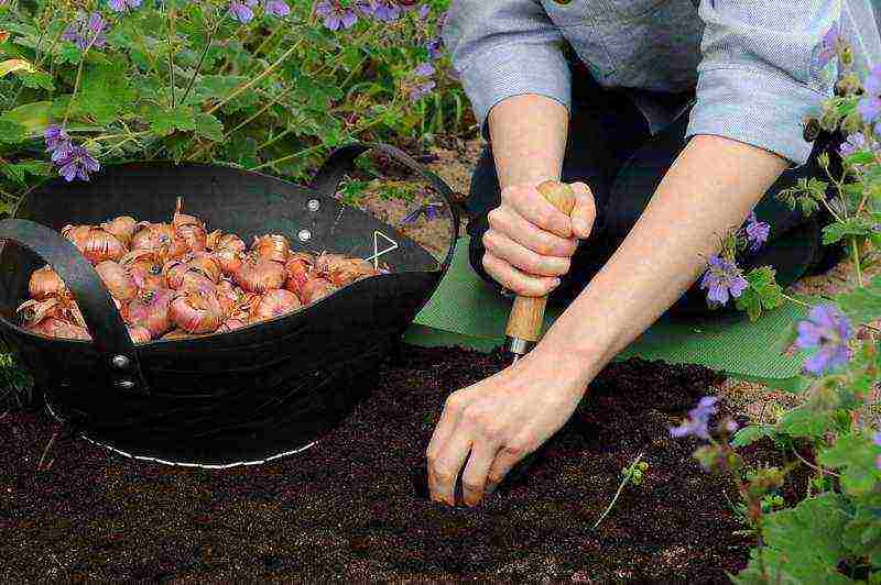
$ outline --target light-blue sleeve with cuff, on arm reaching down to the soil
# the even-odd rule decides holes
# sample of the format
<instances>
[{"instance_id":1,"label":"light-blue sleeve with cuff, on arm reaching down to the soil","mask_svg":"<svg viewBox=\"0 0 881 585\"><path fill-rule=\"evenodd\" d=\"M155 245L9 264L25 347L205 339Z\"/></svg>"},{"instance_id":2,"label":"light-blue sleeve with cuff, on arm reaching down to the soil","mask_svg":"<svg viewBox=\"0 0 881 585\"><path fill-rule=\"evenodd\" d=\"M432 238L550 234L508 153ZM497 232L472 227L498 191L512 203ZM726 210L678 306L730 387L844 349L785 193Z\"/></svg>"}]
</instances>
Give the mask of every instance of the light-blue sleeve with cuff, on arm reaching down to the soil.
<instances>
[{"instance_id":1,"label":"light-blue sleeve with cuff, on arm reaching down to the soil","mask_svg":"<svg viewBox=\"0 0 881 585\"><path fill-rule=\"evenodd\" d=\"M803 166L814 145L805 122L837 78L837 59L822 66L818 55L841 0L700 0L698 13L703 59L686 139L726 136Z\"/></svg>"}]
</instances>

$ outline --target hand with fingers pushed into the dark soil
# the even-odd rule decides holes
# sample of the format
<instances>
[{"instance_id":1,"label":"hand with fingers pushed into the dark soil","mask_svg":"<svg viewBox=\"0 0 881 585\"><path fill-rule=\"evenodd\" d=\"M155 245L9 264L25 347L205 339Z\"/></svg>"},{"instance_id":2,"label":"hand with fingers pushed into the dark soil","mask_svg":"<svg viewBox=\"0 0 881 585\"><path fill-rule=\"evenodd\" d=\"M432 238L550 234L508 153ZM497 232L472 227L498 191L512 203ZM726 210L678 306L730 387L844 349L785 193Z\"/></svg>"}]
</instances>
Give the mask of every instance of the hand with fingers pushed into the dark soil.
<instances>
[{"instance_id":1,"label":"hand with fingers pushed into the dark soil","mask_svg":"<svg viewBox=\"0 0 881 585\"><path fill-rule=\"evenodd\" d=\"M465 465L465 503L479 504L563 427L588 380L581 364L566 364L559 353L545 354L540 344L516 364L449 395L425 453L432 500L456 505Z\"/></svg>"}]
</instances>

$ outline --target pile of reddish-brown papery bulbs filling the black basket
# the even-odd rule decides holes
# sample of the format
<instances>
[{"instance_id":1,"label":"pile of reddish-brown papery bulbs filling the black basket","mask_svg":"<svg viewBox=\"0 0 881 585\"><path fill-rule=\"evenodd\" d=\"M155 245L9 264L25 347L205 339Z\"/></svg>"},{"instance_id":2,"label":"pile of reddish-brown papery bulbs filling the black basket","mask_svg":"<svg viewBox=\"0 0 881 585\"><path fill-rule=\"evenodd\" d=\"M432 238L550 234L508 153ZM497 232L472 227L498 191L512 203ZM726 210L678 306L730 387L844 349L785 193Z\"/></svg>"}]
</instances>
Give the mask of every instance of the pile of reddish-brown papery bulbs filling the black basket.
<instances>
[{"instance_id":1,"label":"pile of reddish-brown papery bulbs filling the black basket","mask_svg":"<svg viewBox=\"0 0 881 585\"><path fill-rule=\"evenodd\" d=\"M291 251L283 235L208 233L177 208L171 223L128 216L67 225L62 235L95 266L134 343L225 333L315 302L339 287L387 273L361 258ZM50 338L91 339L70 291L44 266L31 275L22 327Z\"/></svg>"}]
</instances>

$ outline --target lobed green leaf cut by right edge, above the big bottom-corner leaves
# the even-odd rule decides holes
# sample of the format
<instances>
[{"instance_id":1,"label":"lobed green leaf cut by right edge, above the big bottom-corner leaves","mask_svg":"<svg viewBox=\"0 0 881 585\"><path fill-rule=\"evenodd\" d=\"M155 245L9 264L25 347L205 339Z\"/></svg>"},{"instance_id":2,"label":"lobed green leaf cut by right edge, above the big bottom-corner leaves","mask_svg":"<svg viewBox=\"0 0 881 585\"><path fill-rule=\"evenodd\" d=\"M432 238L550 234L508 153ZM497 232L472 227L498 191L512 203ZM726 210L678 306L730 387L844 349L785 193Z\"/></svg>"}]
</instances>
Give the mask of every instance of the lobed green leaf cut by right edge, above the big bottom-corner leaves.
<instances>
[{"instance_id":1,"label":"lobed green leaf cut by right edge, above the big bottom-corner leaves","mask_svg":"<svg viewBox=\"0 0 881 585\"><path fill-rule=\"evenodd\" d=\"M852 497L870 495L878 485L881 474L875 466L881 448L871 439L860 434L839 435L835 444L822 451L817 461L823 465L839 470L841 489Z\"/></svg>"}]
</instances>

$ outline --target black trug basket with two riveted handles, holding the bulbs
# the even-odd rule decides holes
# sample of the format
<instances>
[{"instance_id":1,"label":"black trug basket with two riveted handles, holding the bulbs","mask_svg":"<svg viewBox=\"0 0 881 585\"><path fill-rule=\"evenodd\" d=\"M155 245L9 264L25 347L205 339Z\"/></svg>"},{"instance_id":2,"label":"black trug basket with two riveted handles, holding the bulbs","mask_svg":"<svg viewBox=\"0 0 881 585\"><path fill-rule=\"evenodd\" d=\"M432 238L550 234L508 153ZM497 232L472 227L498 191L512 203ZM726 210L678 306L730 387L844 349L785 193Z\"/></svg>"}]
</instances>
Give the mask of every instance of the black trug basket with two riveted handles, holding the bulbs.
<instances>
[{"instance_id":1,"label":"black trug basket with two riveted handles, holding the bulbs","mask_svg":"<svg viewBox=\"0 0 881 585\"><path fill-rule=\"evenodd\" d=\"M452 232L443 262L334 198L371 148L415 170L446 200ZM313 253L379 252L391 273L237 331L133 345L97 273L57 231L121 214L168 221L178 196L209 229L246 241L281 233L293 250ZM363 143L336 150L309 187L220 166L134 163L89 183L47 183L25 197L17 218L0 221L0 336L31 369L50 411L121 454L203 467L289 455L338 424L376 386L382 358L437 288L459 232L453 191L440 178L399 148ZM15 307L44 263L76 297L94 341L48 339L17 324Z\"/></svg>"}]
</instances>

